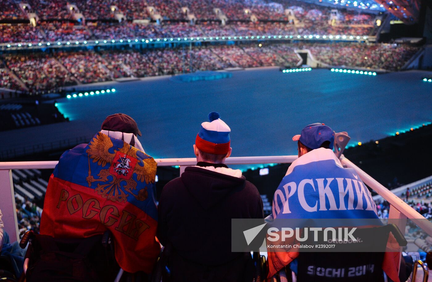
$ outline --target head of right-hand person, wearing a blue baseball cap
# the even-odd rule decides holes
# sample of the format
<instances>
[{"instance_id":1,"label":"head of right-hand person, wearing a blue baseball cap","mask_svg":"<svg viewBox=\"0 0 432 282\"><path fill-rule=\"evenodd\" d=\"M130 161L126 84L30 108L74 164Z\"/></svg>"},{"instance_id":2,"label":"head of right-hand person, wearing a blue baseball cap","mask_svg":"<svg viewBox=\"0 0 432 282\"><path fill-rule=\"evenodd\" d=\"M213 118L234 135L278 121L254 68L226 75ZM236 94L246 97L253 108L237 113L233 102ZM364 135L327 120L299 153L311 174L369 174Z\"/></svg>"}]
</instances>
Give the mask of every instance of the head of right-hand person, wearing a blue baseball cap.
<instances>
[{"instance_id":1,"label":"head of right-hand person, wearing a blue baseball cap","mask_svg":"<svg viewBox=\"0 0 432 282\"><path fill-rule=\"evenodd\" d=\"M318 148L333 150L334 132L324 123L312 123L303 128L300 135L292 137L292 141L297 141L299 157L302 157Z\"/></svg>"}]
</instances>

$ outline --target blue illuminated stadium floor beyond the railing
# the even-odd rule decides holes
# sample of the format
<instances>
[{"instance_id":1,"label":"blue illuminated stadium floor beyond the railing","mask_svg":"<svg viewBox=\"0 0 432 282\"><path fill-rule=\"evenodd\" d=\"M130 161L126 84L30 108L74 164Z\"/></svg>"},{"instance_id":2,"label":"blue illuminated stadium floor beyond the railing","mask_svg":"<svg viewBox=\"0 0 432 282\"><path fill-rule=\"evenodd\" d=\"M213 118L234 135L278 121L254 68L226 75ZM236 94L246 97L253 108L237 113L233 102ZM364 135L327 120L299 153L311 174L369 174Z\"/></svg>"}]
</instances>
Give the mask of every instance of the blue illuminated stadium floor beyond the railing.
<instances>
[{"instance_id":1,"label":"blue illuminated stadium floor beyond the railing","mask_svg":"<svg viewBox=\"0 0 432 282\"><path fill-rule=\"evenodd\" d=\"M10 148L90 136L106 116L127 113L138 122L147 153L193 157L200 123L219 111L232 129L232 155L264 156L296 154L291 138L312 122L347 131L350 144L357 144L432 121L432 85L422 81L428 72L351 75L267 68L232 74L191 83L167 77L112 82L98 87L115 92L58 100L71 122L2 132L1 139Z\"/></svg>"}]
</instances>

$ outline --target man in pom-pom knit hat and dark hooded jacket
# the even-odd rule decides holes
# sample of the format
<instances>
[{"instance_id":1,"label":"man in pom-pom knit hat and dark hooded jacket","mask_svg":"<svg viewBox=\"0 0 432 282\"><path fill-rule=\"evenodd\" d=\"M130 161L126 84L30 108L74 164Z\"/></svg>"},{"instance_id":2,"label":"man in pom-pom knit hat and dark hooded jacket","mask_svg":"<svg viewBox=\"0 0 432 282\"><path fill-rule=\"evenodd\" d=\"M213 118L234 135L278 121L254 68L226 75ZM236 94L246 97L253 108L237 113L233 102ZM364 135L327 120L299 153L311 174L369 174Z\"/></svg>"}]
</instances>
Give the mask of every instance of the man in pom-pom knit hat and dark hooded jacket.
<instances>
[{"instance_id":1,"label":"man in pom-pom knit hat and dark hooded jacket","mask_svg":"<svg viewBox=\"0 0 432 282\"><path fill-rule=\"evenodd\" d=\"M263 218L257 188L239 169L230 169L229 126L219 113L209 114L195 138L196 166L162 190L157 237L169 249L172 282L251 282L249 253L231 252L231 219Z\"/></svg>"}]
</instances>

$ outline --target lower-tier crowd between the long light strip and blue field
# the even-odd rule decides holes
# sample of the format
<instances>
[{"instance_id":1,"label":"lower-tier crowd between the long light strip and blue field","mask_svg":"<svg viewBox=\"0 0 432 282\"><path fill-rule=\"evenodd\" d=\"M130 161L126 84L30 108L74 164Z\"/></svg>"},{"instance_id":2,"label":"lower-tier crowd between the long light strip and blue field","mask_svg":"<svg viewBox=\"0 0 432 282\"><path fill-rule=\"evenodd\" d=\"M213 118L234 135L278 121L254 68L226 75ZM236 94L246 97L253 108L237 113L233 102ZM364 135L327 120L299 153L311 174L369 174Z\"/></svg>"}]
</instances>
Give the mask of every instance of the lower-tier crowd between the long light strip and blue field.
<instances>
[{"instance_id":1,"label":"lower-tier crowd between the long light strip and blue field","mask_svg":"<svg viewBox=\"0 0 432 282\"><path fill-rule=\"evenodd\" d=\"M228 67L297 66L296 49L330 66L400 69L417 47L392 44L243 44L207 45L189 48L127 49L4 55L5 68L15 74L29 91L44 91L79 83L109 81L123 77L177 74ZM6 72L2 85L19 90Z\"/></svg>"}]
</instances>

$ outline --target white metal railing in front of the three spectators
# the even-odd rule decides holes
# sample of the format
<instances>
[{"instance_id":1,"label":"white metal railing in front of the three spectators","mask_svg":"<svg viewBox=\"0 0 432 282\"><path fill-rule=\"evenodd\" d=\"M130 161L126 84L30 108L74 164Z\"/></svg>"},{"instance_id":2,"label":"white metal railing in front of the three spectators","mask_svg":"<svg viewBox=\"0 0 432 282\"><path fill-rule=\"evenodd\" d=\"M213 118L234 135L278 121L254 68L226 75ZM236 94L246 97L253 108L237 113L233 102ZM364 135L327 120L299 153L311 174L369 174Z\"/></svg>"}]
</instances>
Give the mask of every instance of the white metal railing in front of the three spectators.
<instances>
[{"instance_id":1,"label":"white metal railing in front of the three spectators","mask_svg":"<svg viewBox=\"0 0 432 282\"><path fill-rule=\"evenodd\" d=\"M226 159L225 163L229 165L292 163L296 159L297 156L229 157ZM180 172L183 172L186 166L195 165L197 163L196 158L155 160L158 163L158 166L180 166ZM404 231L406 220L411 219L421 229L423 229L424 232L429 236L432 236L432 222L424 220L424 217L421 214L416 212L402 199L378 183L346 157L342 155L340 160L343 165L355 169L365 184L388 201L390 204L389 220L395 219L395 223L398 225L400 230ZM0 162L0 210L2 210L3 213L5 230L10 234L11 241L19 239L11 169L54 169L57 163L57 161Z\"/></svg>"}]
</instances>

